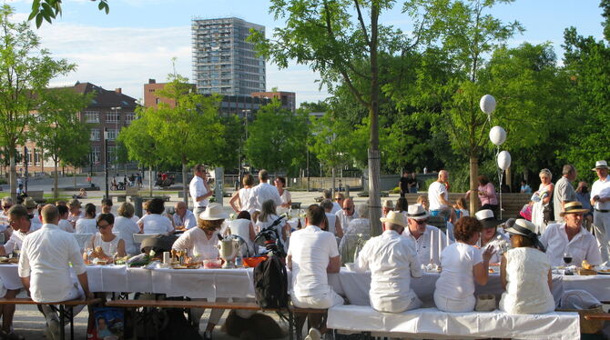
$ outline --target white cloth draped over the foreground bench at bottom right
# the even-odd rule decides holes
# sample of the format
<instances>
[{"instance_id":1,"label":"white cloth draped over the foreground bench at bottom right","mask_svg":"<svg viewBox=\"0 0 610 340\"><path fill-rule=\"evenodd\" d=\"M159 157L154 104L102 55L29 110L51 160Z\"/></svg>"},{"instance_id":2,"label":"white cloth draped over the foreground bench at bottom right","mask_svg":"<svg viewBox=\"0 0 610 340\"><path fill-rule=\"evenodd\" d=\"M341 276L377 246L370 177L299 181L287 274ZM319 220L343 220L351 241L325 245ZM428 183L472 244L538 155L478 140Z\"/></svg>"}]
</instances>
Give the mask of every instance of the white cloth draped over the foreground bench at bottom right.
<instances>
[{"instance_id":1,"label":"white cloth draped over the foreground bench at bottom right","mask_svg":"<svg viewBox=\"0 0 610 340\"><path fill-rule=\"evenodd\" d=\"M393 337L417 335L425 339L518 338L574 340L580 338L576 313L507 315L500 311L444 313L436 308L416 309L400 314L380 313L369 306L341 305L329 309L327 325L332 329Z\"/></svg>"}]
</instances>

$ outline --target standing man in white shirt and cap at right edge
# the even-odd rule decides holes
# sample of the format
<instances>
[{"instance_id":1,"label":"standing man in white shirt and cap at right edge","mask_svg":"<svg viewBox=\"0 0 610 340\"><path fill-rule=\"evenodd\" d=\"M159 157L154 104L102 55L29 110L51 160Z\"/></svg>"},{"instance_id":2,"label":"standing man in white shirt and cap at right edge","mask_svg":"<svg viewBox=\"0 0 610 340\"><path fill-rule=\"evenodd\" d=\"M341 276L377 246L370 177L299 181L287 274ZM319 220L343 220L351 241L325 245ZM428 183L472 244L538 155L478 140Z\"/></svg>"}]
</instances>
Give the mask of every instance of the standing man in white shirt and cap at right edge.
<instances>
[{"instance_id":1,"label":"standing man in white shirt and cap at right edge","mask_svg":"<svg viewBox=\"0 0 610 340\"><path fill-rule=\"evenodd\" d=\"M608 262L610 253L610 177L608 177L608 164L605 161L595 162L598 180L591 186L591 205L593 212L593 228L595 237L602 254L602 261Z\"/></svg>"}]
</instances>

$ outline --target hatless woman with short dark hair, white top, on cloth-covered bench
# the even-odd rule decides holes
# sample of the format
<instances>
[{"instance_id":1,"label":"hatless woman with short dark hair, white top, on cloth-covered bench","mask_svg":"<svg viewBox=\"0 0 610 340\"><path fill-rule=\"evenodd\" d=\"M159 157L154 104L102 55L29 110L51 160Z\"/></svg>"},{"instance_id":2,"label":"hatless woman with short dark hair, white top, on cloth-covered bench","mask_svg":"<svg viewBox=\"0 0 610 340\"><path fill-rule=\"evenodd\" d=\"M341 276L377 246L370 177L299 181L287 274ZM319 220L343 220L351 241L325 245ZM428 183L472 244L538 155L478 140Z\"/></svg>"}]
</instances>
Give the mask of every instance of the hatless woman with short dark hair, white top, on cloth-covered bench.
<instances>
[{"instance_id":1,"label":"hatless woman with short dark hair, white top, on cloth-covered bench","mask_svg":"<svg viewBox=\"0 0 610 340\"><path fill-rule=\"evenodd\" d=\"M474 246L482 228L481 223L471 216L464 216L455 224L456 242L441 253L442 272L434 291L434 303L438 309L445 312L474 310L474 282L487 284L489 260L493 255L493 247L482 252Z\"/></svg>"}]
</instances>

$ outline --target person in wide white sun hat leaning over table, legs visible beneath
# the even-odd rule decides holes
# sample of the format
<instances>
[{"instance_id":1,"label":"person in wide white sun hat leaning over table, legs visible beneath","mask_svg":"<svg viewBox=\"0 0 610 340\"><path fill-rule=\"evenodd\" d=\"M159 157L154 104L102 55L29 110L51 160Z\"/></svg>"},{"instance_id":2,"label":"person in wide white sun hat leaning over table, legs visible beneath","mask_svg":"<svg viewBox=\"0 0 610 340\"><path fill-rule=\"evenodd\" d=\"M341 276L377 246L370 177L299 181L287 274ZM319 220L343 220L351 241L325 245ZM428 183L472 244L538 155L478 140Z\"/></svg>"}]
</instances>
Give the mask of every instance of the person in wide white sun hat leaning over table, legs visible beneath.
<instances>
[{"instance_id":1,"label":"person in wide white sun hat leaning over table, legs visible beneath","mask_svg":"<svg viewBox=\"0 0 610 340\"><path fill-rule=\"evenodd\" d=\"M225 213L222 205L210 203L206 211L198 217L198 226L188 229L184 234L180 235L178 240L172 245L172 249L187 250L188 256L194 257L195 261L215 260L219 257L219 249L216 245L219 243L220 226L229 216ZM204 311L201 308L191 309L192 320L198 324ZM224 309L212 309L208 319L208 326L203 335L204 339L212 338L212 331L219 323L223 312Z\"/></svg>"}]
</instances>

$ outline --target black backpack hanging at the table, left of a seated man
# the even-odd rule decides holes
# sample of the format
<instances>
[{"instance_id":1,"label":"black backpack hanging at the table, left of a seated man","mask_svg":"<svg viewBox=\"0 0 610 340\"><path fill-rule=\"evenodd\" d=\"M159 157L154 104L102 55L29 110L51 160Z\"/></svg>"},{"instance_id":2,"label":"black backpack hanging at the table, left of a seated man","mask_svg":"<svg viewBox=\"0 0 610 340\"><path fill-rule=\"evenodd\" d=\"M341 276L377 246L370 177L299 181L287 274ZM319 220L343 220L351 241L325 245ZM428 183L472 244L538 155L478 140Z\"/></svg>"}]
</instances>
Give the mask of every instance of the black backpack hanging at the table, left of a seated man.
<instances>
[{"instance_id":1,"label":"black backpack hanging at the table, left of a seated man","mask_svg":"<svg viewBox=\"0 0 610 340\"><path fill-rule=\"evenodd\" d=\"M254 268L253 281L256 302L260 307L288 307L288 274L278 255L270 255Z\"/></svg>"}]
</instances>

